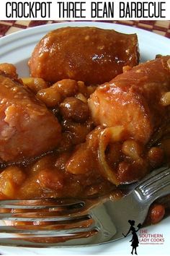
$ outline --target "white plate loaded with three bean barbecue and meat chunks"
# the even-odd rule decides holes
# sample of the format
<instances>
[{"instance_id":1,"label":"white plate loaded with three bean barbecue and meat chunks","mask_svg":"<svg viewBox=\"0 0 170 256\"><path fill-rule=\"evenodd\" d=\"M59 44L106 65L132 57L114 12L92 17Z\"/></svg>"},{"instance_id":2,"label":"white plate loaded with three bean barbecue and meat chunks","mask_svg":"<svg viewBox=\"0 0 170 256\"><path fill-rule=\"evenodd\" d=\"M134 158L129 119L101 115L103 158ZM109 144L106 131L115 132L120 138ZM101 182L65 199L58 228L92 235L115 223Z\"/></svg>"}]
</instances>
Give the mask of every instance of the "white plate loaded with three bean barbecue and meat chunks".
<instances>
[{"instance_id":1,"label":"white plate loaded with three bean barbecue and meat chunks","mask_svg":"<svg viewBox=\"0 0 170 256\"><path fill-rule=\"evenodd\" d=\"M50 198L47 207L55 200L68 203L75 198L95 203L120 200L128 187L168 164L168 38L104 22L63 22L7 35L0 46L1 229L58 229L53 218L48 227L35 218L35 209L26 226L25 209L6 208L8 200L20 200L23 206L27 200L44 205ZM138 253L156 255L163 248L168 253L169 202L169 195L156 200L140 227L153 237L164 237L148 244L140 239ZM50 217L54 209L55 205ZM80 225L86 229L90 224ZM95 235L88 234L92 239ZM63 247L69 239L14 238L0 252L55 254L59 245L58 252L74 255L130 251L128 237Z\"/></svg>"}]
</instances>

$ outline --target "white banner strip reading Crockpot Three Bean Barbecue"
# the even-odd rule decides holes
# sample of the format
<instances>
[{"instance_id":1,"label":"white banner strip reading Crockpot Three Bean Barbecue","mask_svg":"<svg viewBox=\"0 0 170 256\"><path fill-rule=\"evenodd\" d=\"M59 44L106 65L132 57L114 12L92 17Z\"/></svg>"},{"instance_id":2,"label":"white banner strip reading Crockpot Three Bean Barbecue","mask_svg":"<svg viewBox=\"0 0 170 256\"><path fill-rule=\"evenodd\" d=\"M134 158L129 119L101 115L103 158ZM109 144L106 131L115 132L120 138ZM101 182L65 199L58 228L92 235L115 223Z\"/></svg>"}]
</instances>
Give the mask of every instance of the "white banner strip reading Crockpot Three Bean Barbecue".
<instances>
[{"instance_id":1,"label":"white banner strip reading Crockpot Three Bean Barbecue","mask_svg":"<svg viewBox=\"0 0 170 256\"><path fill-rule=\"evenodd\" d=\"M0 1L0 20L170 20L170 0Z\"/></svg>"}]
</instances>

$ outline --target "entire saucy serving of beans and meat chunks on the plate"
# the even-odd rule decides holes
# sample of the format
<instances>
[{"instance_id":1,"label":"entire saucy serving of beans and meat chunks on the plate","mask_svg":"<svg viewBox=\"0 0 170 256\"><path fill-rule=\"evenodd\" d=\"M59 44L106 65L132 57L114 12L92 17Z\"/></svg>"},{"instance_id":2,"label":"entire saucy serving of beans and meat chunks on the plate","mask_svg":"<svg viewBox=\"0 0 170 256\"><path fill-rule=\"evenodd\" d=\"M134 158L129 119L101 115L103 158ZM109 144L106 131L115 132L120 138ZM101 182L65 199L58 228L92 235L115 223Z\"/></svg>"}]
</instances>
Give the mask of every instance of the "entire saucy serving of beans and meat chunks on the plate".
<instances>
[{"instance_id":1,"label":"entire saucy serving of beans and meat chunks on the plate","mask_svg":"<svg viewBox=\"0 0 170 256\"><path fill-rule=\"evenodd\" d=\"M91 38L101 33L106 45L95 44L87 31ZM117 38L123 38L125 51ZM117 47L113 54L119 53L112 64L104 55L98 58L98 46L109 51L110 42ZM93 47L99 52L89 64ZM125 184L167 163L169 59L159 56L133 67L136 35L67 27L38 43L29 61L32 77L19 80L14 67L0 65L0 199L120 198ZM149 221L160 221L166 208L167 200L156 202Z\"/></svg>"}]
</instances>

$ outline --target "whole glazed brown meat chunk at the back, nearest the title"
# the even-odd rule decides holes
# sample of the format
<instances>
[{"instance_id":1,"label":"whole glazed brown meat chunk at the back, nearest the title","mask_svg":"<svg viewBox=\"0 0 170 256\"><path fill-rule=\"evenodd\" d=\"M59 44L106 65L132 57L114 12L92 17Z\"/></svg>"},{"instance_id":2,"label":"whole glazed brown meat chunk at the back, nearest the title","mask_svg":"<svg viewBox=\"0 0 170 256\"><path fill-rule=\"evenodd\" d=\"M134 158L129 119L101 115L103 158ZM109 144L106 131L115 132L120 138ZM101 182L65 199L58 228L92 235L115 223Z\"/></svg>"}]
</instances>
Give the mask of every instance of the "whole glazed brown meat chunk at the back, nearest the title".
<instances>
[{"instance_id":1,"label":"whole glazed brown meat chunk at the back, nearest the title","mask_svg":"<svg viewBox=\"0 0 170 256\"><path fill-rule=\"evenodd\" d=\"M45 35L29 61L32 77L71 78L86 84L108 82L122 67L138 64L137 35L97 27L63 27Z\"/></svg>"}]
</instances>

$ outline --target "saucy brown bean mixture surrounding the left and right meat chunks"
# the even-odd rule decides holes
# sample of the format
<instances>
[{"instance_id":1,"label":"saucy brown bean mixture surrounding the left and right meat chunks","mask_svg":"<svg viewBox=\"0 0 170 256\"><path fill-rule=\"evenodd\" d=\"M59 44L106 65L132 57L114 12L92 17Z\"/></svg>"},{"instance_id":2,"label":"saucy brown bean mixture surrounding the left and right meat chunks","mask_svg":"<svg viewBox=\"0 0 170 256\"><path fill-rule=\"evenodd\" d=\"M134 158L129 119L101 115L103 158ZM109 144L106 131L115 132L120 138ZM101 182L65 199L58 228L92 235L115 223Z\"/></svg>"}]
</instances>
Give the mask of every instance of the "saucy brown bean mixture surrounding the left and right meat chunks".
<instances>
[{"instance_id":1,"label":"saucy brown bean mixture surrounding the left and right meat chunks","mask_svg":"<svg viewBox=\"0 0 170 256\"><path fill-rule=\"evenodd\" d=\"M168 64L169 57L162 57L158 62L164 63L164 59ZM152 67L152 61L146 64L147 70L149 64ZM7 81L12 81L12 86L16 87L17 74L14 67L1 65L0 69L5 73L1 74L2 78L6 80L8 77ZM164 73L167 76L167 90L159 95L160 102L163 102L161 108L168 106L168 65ZM125 80L124 76L130 77L130 74L133 74L133 69L122 74L122 81ZM138 78L135 81L138 82ZM95 85L86 86L84 82L70 79L51 85L42 78L31 77L22 79L22 82L17 81L27 97L35 94L40 100L40 107L43 106L47 114L58 120L60 125L56 136L61 132L61 140L56 142L52 152L37 155L31 161L30 158L25 158L21 163L4 161L6 167L1 168L0 174L1 199L99 197L110 192L114 197L121 197L122 191L117 187L119 184L138 181L169 158L168 117L165 127L159 125L153 129L146 143L146 140L136 140L120 124L114 127L105 127L104 124L97 126L96 119L91 119L91 108L88 105L89 97L92 99L99 90ZM1 87L3 85L1 83ZM23 108L27 109L27 104ZM33 133L36 132L34 128L32 126ZM31 145L32 148L34 146ZM150 216L152 223L163 218L165 208L169 208L167 205L166 200L153 205Z\"/></svg>"}]
</instances>

